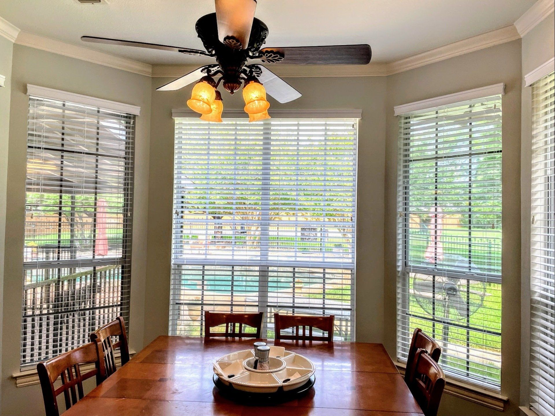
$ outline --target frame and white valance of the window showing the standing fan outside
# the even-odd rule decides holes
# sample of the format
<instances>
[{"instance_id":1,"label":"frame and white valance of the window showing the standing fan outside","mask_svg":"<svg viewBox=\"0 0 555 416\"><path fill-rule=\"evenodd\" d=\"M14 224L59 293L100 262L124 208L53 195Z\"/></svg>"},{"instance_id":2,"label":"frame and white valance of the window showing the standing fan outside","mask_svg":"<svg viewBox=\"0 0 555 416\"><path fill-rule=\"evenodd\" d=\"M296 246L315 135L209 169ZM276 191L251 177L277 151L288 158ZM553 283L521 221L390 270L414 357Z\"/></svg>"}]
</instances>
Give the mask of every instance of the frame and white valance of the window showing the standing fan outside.
<instances>
[{"instance_id":1,"label":"frame and white valance of the window showing the standing fan outside","mask_svg":"<svg viewBox=\"0 0 555 416\"><path fill-rule=\"evenodd\" d=\"M465 383L470 383L472 385L477 385L480 388L486 388L489 390L492 390L494 392L499 392L501 389L501 378L499 378L498 383L493 383L493 382L483 382L482 380L480 380L480 377L476 376L473 377L472 376L472 370L471 367L469 366L469 360L470 355L468 355L468 351L470 351L471 344L470 344L470 338L469 338L469 334L472 331L477 331L480 333L487 333L489 335L493 335L495 337L499 337L499 339L501 339L501 329L497 330L489 330L486 328L482 328L482 327L473 327L470 324L470 318L467 318L466 320L464 320L462 323L458 323L455 322L453 320L449 320L449 319L443 319L442 317L436 317L436 314L433 315L433 317L431 317L430 315L428 316L421 316L419 314L413 314L413 313L407 313L410 309L410 289L409 286L411 284L411 274L413 275L417 275L417 274L425 274L428 277L431 277L432 279L432 285L435 286L435 282L436 279L438 277L445 277L445 278L454 278L454 279L464 279L466 280L466 284L467 284L467 291L465 296L470 296L470 284L471 282L483 282L484 284L486 283L498 283L499 284L499 292L501 292L501 269L499 269L499 273L495 274L492 273L491 270L484 272L482 274L479 273L472 273L473 270L473 263L472 263L472 255L471 257L469 257L467 259L468 262L468 267L469 267L469 271L468 272L464 272L464 271L459 271L459 270L453 270L453 268L458 268L458 265L456 267L444 267L443 269L437 268L437 267L425 267L425 265L415 265L415 264L411 264L411 260L410 260L410 254L407 253L407 250L410 250L411 244L410 244L410 203L408 201L408 193L410 192L410 184L408 183L408 166L409 163L411 161L411 157L410 157L410 151L406 151L405 149L403 149L403 132L402 132L402 128L403 125L406 126L406 122L409 121L411 119L411 117L413 116L413 114L415 113L432 113L434 110L436 111L436 114L438 113L438 111L442 110L442 109L449 109L449 108L457 108L457 107L461 107L461 106L465 106L466 103L472 103L473 100L476 99L483 99L483 101L487 101L488 99L494 99L496 98L496 96L499 96L499 102L501 102L501 95L504 92L504 86L503 84L496 84L496 86L490 86L490 87L483 87L483 88L477 88L475 90L470 90L467 92L461 92L461 93L455 93L455 94L449 94L448 96L442 96L442 97L437 97L437 98L432 98L432 99L428 99L428 100L423 100L421 102L416 102L416 103L410 103L410 104L404 104L403 106L397 106L395 108L395 114L396 116L399 116L399 120L400 120L400 133L399 133L399 141L398 141L398 173L397 173L397 221L396 221L396 252L397 252L397 273L396 273L396 293L397 293L397 305L396 305L396 315L397 315L397 341L396 341L396 353L397 353L397 360L399 362L403 362L406 363L406 353L404 352L405 349L408 348L408 345L406 346L406 348L401 347L402 343L404 342L403 340L405 339L405 334L407 334L409 332L409 328L410 328L410 324L409 324L409 320L411 318L414 319L422 319L422 320L426 320L428 322L432 322L433 326L435 327L436 323L440 324L440 325L445 325L448 324L450 325L450 327L455 327L455 328L459 328L462 329L466 332L467 334L467 341L466 341L466 349L467 349L467 365L466 365L466 377L463 376L462 370L454 370L454 371L450 371L449 367L444 367L444 369L446 370L446 372L448 373L448 375L450 377L452 377L453 379L458 379L461 380L462 382ZM463 98L463 101L461 101L461 98ZM470 105L470 104L469 104ZM438 118L441 119L441 118ZM501 123L501 121L499 121L499 123ZM431 128L430 128L431 129ZM501 129L501 127L499 127L499 129ZM436 128L436 132L441 132L440 129ZM422 133L421 133L422 134ZM432 134L431 132L426 132L426 134ZM461 134L462 135L462 134ZM472 133L470 133L470 136L472 136ZM441 136L437 136L436 137L441 138ZM436 139L437 142L437 139ZM423 145L422 145L423 146ZM428 146L428 145L426 145ZM436 155L437 155L437 145L436 145ZM501 154L502 155L502 148L501 146L499 146L499 149L493 149L492 151L488 151L488 152L484 152L484 153L480 153L480 156L490 156L492 154ZM472 149L469 148L468 149L468 153L462 154L462 153L457 153L453 156L447 156L447 155L439 155L439 156L430 156L428 159L430 162L435 162L435 166L436 166L436 178L437 178L437 166L438 166L438 162L440 161L445 161L447 158L461 158L461 157L465 157L467 156L467 164L468 164L468 171L471 171L471 166L472 166L472 156L478 156L477 153L473 153ZM427 159L426 159L427 160ZM420 159L419 159L420 161ZM499 161L499 163L502 163L502 156L501 156L501 161ZM463 169L464 170L464 169ZM405 172L406 171L406 172ZM426 171L428 172L428 171ZM440 182L437 181L435 182L435 190L436 190L436 195L438 194L438 191L440 191L440 189L438 189L438 184L440 184ZM501 175L499 174L499 185L501 186ZM437 198L436 198L437 201ZM470 199L469 199L470 201ZM502 205L502 200L500 201L501 205ZM469 211L470 212L470 211ZM499 208L499 214L502 214L502 208ZM436 230L437 231L437 230ZM469 244L469 249L470 249L470 245ZM499 259L499 261L501 261ZM501 264L499 263L499 267L501 267ZM469 273L470 272L470 273ZM468 299L468 298L467 298ZM468 301L467 301L468 302ZM470 303L467 303L467 314L468 312L468 308ZM433 306L433 308L435 309L436 306ZM501 304L499 304L499 312L501 313ZM470 317L470 315L468 315L468 317ZM430 334L431 335L431 334ZM408 339L408 342L410 342L410 337ZM501 347L499 347L499 350L501 350ZM501 368L501 353L499 353L499 367ZM445 365L447 365L447 362L444 363ZM499 369L499 371L501 371L501 369Z\"/></svg>"}]
</instances>

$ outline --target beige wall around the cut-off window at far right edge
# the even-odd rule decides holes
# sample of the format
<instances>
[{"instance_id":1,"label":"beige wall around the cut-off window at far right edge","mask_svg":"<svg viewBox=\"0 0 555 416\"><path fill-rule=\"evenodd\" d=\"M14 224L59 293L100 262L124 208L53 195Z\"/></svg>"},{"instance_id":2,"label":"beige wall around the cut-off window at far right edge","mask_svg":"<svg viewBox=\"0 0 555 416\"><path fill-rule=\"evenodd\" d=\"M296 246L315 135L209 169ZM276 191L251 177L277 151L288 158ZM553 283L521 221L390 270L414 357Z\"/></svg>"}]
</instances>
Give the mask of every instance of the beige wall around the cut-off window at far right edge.
<instances>
[{"instance_id":1,"label":"beige wall around the cut-off window at far right edge","mask_svg":"<svg viewBox=\"0 0 555 416\"><path fill-rule=\"evenodd\" d=\"M524 76L555 53L555 14L522 38L522 108L521 108L521 227L522 227L522 337L521 337L521 404L529 404L528 363L530 354L530 198L532 171L532 88L526 87Z\"/></svg>"}]
</instances>

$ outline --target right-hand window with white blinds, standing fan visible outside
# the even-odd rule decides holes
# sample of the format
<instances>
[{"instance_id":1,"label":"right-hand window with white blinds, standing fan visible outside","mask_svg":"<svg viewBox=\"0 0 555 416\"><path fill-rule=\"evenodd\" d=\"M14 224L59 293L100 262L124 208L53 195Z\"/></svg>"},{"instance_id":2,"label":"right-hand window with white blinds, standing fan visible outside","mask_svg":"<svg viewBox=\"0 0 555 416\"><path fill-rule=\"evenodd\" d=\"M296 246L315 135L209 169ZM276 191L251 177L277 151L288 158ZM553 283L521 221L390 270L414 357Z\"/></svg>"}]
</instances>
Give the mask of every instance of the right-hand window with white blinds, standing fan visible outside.
<instances>
[{"instance_id":1,"label":"right-hand window with white blinds, standing fan visible outside","mask_svg":"<svg viewBox=\"0 0 555 416\"><path fill-rule=\"evenodd\" d=\"M397 357L420 327L447 374L498 390L501 95L491 95L400 117Z\"/></svg>"}]
</instances>

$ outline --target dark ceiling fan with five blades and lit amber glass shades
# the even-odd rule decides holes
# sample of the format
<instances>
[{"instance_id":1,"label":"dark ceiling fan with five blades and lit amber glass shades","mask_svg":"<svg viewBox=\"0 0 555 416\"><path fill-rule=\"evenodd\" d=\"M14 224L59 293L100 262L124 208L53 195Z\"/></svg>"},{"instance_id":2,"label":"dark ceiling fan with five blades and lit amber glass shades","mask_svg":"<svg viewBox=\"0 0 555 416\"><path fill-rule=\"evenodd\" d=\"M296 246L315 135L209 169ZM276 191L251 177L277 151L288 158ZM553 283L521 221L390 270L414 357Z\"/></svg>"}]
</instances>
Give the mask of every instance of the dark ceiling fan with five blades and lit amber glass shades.
<instances>
[{"instance_id":1,"label":"dark ceiling fan with five blades and lit amber glass shades","mask_svg":"<svg viewBox=\"0 0 555 416\"><path fill-rule=\"evenodd\" d=\"M216 63L171 81L158 91L174 91L198 81L191 93L188 106L202 114L206 121L221 122L223 104L218 91L220 83L230 94L243 84L245 112L249 121L270 118L266 91L280 103L297 99L301 93L283 79L258 63L359 64L370 62L372 50L367 44L340 46L309 46L262 48L268 37L268 26L254 17L256 0L215 0L216 12L206 14L195 24L196 33L206 52L155 43L123 41L120 39L82 36L85 42L107 43L139 48L160 49L184 54L215 57ZM218 77L216 82L214 77ZM265 88L263 85L265 85Z\"/></svg>"}]
</instances>

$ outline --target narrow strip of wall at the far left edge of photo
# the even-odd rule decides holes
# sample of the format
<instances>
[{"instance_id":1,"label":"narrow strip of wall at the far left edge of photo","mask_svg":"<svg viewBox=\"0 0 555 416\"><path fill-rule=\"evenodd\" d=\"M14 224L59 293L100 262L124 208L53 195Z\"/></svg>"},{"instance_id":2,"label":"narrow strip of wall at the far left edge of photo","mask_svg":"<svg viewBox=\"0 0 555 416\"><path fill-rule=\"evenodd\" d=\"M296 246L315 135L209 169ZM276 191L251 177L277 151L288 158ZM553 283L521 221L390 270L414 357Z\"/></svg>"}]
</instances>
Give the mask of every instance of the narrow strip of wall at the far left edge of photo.
<instances>
[{"instance_id":1,"label":"narrow strip of wall at the far left edge of photo","mask_svg":"<svg viewBox=\"0 0 555 416\"><path fill-rule=\"evenodd\" d=\"M12 85L13 43L0 36L0 75L6 77L0 87L0 299L4 290L4 234L6 233L6 186L8 179L9 102ZM0 368L2 368L2 308L0 308ZM0 389L2 403L2 389Z\"/></svg>"}]
</instances>

